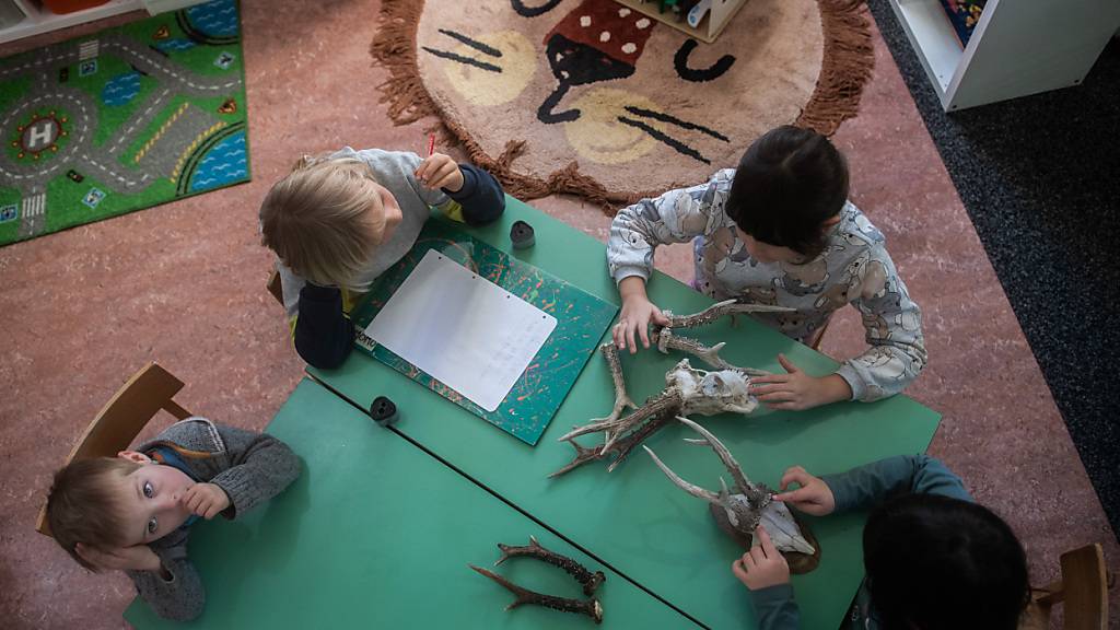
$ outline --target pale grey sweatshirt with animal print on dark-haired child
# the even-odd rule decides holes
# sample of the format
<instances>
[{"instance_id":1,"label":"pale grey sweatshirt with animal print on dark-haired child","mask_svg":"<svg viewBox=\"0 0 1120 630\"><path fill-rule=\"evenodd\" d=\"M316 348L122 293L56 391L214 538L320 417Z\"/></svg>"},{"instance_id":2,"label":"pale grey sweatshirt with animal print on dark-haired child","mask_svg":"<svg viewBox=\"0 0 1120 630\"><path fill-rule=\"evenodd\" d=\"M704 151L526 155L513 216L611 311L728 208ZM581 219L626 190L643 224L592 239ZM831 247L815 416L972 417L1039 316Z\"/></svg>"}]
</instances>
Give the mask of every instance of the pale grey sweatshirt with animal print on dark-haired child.
<instances>
[{"instance_id":1,"label":"pale grey sweatshirt with animal print on dark-haired child","mask_svg":"<svg viewBox=\"0 0 1120 630\"><path fill-rule=\"evenodd\" d=\"M870 348L837 371L851 387L853 400L878 400L906 388L926 362L922 313L895 270L883 233L849 202L820 256L802 265L759 262L724 212L734 177L734 169L724 169L706 184L619 211L607 241L615 281L629 276L648 280L659 244L693 241L693 286L718 300L794 308L752 314L786 336L811 341L833 311L846 304L856 307Z\"/></svg>"}]
</instances>

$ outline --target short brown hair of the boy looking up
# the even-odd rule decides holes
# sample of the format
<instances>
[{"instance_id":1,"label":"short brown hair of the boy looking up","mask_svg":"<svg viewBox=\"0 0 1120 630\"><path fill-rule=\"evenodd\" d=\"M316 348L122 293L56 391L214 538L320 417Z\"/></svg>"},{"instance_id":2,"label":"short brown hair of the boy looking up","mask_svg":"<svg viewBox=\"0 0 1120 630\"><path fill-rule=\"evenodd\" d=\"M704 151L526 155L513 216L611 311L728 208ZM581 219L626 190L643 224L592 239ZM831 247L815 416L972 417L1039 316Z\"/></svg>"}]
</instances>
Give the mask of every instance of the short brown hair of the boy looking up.
<instances>
[{"instance_id":1,"label":"short brown hair of the boy looking up","mask_svg":"<svg viewBox=\"0 0 1120 630\"><path fill-rule=\"evenodd\" d=\"M97 571L77 554L78 543L101 550L124 544L116 479L139 467L121 457L96 457L72 462L55 473L47 495L47 525L58 545L85 568Z\"/></svg>"}]
</instances>

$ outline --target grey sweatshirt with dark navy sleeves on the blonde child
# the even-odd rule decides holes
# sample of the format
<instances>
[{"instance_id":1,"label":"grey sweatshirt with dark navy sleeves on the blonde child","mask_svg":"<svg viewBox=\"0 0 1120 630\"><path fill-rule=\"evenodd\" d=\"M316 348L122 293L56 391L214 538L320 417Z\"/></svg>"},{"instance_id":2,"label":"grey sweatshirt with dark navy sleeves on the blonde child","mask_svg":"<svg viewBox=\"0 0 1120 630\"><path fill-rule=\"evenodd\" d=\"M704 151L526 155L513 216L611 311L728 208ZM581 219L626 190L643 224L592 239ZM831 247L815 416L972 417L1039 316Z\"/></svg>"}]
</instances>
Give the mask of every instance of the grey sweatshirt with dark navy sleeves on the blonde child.
<instances>
[{"instance_id":1,"label":"grey sweatshirt with dark navy sleeves on the blonde child","mask_svg":"<svg viewBox=\"0 0 1120 630\"><path fill-rule=\"evenodd\" d=\"M367 285L393 266L416 243L431 206L449 219L480 225L496 220L505 211L505 193L494 176L469 164L460 164L463 187L456 193L427 188L417 180L416 169L422 159L410 152L345 147L332 157L357 158L370 166L377 183L392 193L401 206L401 223L389 240L377 247L356 284ZM283 305L292 328L296 351L316 368L336 368L346 360L354 342L351 307L361 294L338 287L312 285L293 274L279 260Z\"/></svg>"}]
</instances>

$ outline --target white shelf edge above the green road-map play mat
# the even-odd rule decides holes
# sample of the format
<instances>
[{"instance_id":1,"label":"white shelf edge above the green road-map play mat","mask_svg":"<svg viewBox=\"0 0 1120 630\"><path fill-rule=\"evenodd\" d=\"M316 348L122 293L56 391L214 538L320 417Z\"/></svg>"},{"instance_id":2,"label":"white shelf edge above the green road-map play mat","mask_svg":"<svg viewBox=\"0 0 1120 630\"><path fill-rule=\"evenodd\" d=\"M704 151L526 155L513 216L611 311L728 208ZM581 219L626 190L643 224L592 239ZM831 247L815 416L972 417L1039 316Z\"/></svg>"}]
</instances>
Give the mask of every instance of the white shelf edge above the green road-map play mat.
<instances>
[{"instance_id":1,"label":"white shelf edge above the green road-map play mat","mask_svg":"<svg viewBox=\"0 0 1120 630\"><path fill-rule=\"evenodd\" d=\"M0 15L4 17L0 21L0 44L129 11L143 9L156 15L197 4L199 1L202 0L110 0L71 13L54 13L35 0L0 0L0 4L3 4ZM22 19L19 13L22 13Z\"/></svg>"}]
</instances>

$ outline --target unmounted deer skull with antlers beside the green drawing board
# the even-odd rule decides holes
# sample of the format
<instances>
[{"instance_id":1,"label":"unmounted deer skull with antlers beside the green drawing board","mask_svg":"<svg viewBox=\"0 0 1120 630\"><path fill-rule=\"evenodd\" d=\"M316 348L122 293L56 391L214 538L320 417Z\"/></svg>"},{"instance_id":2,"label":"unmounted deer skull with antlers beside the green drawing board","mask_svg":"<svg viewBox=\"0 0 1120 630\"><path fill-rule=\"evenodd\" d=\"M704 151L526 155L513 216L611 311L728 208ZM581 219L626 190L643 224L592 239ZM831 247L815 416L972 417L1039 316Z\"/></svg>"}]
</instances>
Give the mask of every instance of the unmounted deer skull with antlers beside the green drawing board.
<instances>
[{"instance_id":1,"label":"unmounted deer skull with antlers beside the green drawing board","mask_svg":"<svg viewBox=\"0 0 1120 630\"><path fill-rule=\"evenodd\" d=\"M613 471L635 446L672 423L676 416L690 414L712 416L725 411L752 413L758 406L758 401L749 392L750 377L767 372L732 365L719 356L724 343L709 348L693 339L674 334L673 328L701 326L725 315L734 316L738 313L788 311L793 309L764 304L739 304L734 299L715 304L692 315L673 315L665 311L664 315L669 318L669 325L655 327L651 334L657 350L663 353L668 353L670 350L688 352L716 368L717 371L693 369L689 360L683 359L665 373L665 389L648 398L641 407L634 405L629 395L626 393L626 382L618 359L618 349L614 343L605 343L599 346L607 365L610 368L610 378L615 383L614 409L609 416L595 418L560 437L560 441L569 442L576 448L576 456L549 476L559 476L587 462L607 457L612 453L615 454L615 458L607 466L607 471ZM633 411L623 416L623 411L627 408L633 409ZM604 435L601 446L587 447L573 439L580 435L600 432Z\"/></svg>"}]
</instances>

